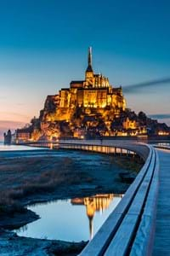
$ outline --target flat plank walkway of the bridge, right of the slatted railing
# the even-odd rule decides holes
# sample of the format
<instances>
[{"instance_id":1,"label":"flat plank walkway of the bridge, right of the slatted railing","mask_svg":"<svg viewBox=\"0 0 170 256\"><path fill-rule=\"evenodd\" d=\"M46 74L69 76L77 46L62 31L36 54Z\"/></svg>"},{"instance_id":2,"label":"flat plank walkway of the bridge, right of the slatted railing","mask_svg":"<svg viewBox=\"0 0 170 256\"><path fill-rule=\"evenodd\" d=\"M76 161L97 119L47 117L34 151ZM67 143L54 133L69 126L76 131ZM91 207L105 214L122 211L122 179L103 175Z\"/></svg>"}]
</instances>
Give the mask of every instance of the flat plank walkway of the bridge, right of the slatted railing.
<instances>
[{"instance_id":1,"label":"flat plank walkway of the bridge, right of the slatted railing","mask_svg":"<svg viewBox=\"0 0 170 256\"><path fill-rule=\"evenodd\" d=\"M158 193L154 256L170 255L170 151L158 149L160 186Z\"/></svg>"}]
</instances>

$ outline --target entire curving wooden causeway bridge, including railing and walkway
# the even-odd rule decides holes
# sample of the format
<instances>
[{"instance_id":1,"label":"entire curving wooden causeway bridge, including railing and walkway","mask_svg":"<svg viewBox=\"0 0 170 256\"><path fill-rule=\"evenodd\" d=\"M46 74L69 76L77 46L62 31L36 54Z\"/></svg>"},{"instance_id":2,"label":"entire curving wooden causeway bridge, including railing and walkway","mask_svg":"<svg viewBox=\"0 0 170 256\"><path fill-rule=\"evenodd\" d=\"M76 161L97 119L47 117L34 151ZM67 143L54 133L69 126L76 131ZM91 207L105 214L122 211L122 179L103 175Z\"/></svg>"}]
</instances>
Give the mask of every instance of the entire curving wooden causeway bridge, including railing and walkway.
<instances>
[{"instance_id":1,"label":"entire curving wooden causeway bridge, including railing and walkway","mask_svg":"<svg viewBox=\"0 0 170 256\"><path fill-rule=\"evenodd\" d=\"M127 141L59 141L53 147L138 154L144 166L80 256L170 255L170 148Z\"/></svg>"}]
</instances>

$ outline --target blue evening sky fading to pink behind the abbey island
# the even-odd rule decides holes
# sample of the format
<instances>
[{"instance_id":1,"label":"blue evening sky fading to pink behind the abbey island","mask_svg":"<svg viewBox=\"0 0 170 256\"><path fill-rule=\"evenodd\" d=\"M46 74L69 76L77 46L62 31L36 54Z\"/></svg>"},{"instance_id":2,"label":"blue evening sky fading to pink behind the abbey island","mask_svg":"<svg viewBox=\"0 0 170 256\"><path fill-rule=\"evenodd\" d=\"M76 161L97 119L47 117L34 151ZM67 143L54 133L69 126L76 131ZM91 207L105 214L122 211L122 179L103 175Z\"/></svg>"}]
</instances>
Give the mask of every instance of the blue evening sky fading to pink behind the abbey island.
<instances>
[{"instance_id":1,"label":"blue evening sky fading to pink behind the abbey island","mask_svg":"<svg viewBox=\"0 0 170 256\"><path fill-rule=\"evenodd\" d=\"M0 0L0 131L28 123L48 94L83 79L89 45L94 71L113 85L170 78L169 14L164 0ZM170 124L170 84L124 95L128 108Z\"/></svg>"}]
</instances>

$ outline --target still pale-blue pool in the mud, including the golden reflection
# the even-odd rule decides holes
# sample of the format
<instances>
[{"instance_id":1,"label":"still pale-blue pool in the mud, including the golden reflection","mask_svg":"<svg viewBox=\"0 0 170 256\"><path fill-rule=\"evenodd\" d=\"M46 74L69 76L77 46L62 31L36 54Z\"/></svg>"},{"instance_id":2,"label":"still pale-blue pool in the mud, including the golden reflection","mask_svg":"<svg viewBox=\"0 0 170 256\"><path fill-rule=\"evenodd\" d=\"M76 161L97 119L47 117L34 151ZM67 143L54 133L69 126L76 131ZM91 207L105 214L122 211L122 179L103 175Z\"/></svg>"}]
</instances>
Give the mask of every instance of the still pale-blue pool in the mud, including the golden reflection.
<instances>
[{"instance_id":1,"label":"still pale-blue pool in the mud, including the golden reflection","mask_svg":"<svg viewBox=\"0 0 170 256\"><path fill-rule=\"evenodd\" d=\"M19 236L33 238L48 237L63 241L87 241L89 238L91 240L121 198L122 195L96 195L91 198L37 203L28 209L36 212L40 218L14 231ZM111 203L107 207L108 199Z\"/></svg>"}]
</instances>

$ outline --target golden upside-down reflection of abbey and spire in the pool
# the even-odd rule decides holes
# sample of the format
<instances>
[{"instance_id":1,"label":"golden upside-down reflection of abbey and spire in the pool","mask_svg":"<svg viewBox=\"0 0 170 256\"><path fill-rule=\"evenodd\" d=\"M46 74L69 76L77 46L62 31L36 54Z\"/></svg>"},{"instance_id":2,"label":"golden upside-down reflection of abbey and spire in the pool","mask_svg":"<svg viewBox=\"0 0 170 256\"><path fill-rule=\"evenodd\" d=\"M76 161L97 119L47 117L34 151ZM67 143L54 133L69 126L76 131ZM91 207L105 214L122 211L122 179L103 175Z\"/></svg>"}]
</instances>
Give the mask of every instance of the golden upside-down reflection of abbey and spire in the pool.
<instances>
[{"instance_id":1,"label":"golden upside-down reflection of abbey and spire in the pool","mask_svg":"<svg viewBox=\"0 0 170 256\"><path fill-rule=\"evenodd\" d=\"M84 205L86 207L86 212L89 219L90 239L92 239L94 236L93 219L95 212L104 212L110 206L111 201L114 200L114 197L122 197L122 195L103 194L71 199L72 205Z\"/></svg>"}]
</instances>

